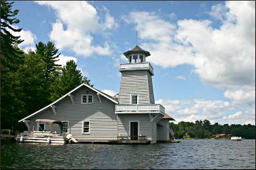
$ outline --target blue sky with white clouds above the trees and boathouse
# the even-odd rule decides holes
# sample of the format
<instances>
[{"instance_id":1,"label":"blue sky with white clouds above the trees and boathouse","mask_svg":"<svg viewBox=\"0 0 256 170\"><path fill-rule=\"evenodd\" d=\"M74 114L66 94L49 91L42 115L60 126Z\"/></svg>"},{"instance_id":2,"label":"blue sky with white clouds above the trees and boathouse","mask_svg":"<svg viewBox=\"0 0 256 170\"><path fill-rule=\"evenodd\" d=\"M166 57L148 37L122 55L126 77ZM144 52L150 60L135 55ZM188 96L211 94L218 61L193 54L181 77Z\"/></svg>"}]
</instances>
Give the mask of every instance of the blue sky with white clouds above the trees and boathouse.
<instances>
[{"instance_id":1,"label":"blue sky with white clouds above the trees and boathouse","mask_svg":"<svg viewBox=\"0 0 256 170\"><path fill-rule=\"evenodd\" d=\"M155 103L179 121L255 125L255 1L15 1L34 49L53 41L95 88L120 90L123 53L151 53ZM137 38L136 38L137 32Z\"/></svg>"}]
</instances>

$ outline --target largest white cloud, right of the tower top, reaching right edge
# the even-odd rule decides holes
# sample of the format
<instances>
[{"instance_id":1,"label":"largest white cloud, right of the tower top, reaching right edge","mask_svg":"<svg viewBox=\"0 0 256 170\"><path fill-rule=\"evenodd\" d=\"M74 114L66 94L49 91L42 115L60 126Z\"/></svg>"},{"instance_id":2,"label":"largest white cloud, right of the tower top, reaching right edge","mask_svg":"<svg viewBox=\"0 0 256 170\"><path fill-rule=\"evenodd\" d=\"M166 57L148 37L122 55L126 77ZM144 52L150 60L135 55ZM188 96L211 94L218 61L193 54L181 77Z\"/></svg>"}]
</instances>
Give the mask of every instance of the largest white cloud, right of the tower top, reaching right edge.
<instances>
[{"instance_id":1,"label":"largest white cloud, right of the tower top, reaching right edge","mask_svg":"<svg viewBox=\"0 0 256 170\"><path fill-rule=\"evenodd\" d=\"M255 87L255 1L227 1L214 5L209 13L221 20L218 28L210 20L172 23L145 11L133 11L123 19L135 24L152 63L163 68L193 65L203 82L226 90L224 95L236 102L251 103L255 101L251 94L255 90L250 90ZM238 92L241 88L246 96ZM235 91L236 96L231 94Z\"/></svg>"}]
</instances>

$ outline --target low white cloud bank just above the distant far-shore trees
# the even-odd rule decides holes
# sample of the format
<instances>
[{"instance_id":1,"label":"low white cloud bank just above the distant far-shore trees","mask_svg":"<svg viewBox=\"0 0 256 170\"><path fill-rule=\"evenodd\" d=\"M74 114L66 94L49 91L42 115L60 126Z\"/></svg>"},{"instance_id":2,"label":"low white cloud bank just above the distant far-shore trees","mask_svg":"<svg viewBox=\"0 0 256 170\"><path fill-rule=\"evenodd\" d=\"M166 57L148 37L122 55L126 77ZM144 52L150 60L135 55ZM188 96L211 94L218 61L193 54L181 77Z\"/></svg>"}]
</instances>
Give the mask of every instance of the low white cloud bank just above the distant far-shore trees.
<instances>
[{"instance_id":1,"label":"low white cloud bank just above the distant far-shore trees","mask_svg":"<svg viewBox=\"0 0 256 170\"><path fill-rule=\"evenodd\" d=\"M174 117L176 122L208 119L211 123L255 124L255 108L242 109L228 101L159 99L155 103L163 105L165 113Z\"/></svg>"}]
</instances>

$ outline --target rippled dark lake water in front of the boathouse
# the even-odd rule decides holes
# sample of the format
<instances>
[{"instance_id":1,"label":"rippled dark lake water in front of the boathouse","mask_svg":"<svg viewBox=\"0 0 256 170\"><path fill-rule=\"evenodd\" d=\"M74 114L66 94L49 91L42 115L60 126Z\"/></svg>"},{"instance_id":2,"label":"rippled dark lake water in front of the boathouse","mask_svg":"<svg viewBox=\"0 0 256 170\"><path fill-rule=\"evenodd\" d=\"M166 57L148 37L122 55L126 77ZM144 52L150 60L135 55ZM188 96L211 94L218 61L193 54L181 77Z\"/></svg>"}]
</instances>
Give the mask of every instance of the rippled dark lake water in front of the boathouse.
<instances>
[{"instance_id":1,"label":"rippled dark lake water in front of the boathouse","mask_svg":"<svg viewBox=\"0 0 256 170\"><path fill-rule=\"evenodd\" d=\"M148 145L1 143L4 169L255 169L255 140Z\"/></svg>"}]
</instances>

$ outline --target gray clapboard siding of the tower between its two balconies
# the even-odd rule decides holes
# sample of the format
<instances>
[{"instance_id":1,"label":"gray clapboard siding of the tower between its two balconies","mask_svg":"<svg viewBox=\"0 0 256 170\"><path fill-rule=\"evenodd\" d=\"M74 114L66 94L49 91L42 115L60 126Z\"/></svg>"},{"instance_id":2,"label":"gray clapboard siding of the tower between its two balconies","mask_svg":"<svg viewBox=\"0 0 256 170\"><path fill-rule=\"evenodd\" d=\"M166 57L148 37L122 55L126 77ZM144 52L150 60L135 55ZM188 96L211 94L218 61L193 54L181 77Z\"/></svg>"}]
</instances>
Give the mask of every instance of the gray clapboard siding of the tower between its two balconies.
<instances>
[{"instance_id":1,"label":"gray clapboard siding of the tower between its two balconies","mask_svg":"<svg viewBox=\"0 0 256 170\"><path fill-rule=\"evenodd\" d=\"M153 103L153 86L148 70L122 72L119 103L130 104L131 94L138 94L138 104Z\"/></svg>"}]
</instances>

